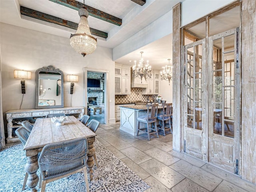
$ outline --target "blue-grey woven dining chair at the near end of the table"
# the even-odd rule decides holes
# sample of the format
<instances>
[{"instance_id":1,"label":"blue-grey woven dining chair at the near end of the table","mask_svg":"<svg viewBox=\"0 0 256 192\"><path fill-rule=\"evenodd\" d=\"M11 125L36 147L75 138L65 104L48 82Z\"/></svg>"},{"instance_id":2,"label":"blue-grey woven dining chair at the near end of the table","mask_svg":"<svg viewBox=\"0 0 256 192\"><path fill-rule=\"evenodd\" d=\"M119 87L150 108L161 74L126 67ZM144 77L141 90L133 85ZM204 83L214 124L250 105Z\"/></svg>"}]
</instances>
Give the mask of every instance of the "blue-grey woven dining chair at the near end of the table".
<instances>
[{"instance_id":1,"label":"blue-grey woven dining chair at the near end of the table","mask_svg":"<svg viewBox=\"0 0 256 192\"><path fill-rule=\"evenodd\" d=\"M89 192L86 158L86 138L58 142L44 146L38 158L41 171L39 187L45 191L46 184L60 178L84 171L86 190Z\"/></svg>"}]
</instances>

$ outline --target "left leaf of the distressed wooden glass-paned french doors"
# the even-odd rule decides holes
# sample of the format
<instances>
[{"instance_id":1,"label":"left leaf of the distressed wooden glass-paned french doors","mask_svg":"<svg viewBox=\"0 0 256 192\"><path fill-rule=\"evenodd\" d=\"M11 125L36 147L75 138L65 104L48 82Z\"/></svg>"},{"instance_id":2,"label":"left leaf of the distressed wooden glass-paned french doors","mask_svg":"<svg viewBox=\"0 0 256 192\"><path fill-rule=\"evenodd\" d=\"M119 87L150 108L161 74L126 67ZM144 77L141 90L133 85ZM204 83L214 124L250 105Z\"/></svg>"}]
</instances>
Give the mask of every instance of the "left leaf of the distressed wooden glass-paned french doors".
<instances>
[{"instance_id":1,"label":"left leaf of the distressed wooden glass-paned french doors","mask_svg":"<svg viewBox=\"0 0 256 192\"><path fill-rule=\"evenodd\" d=\"M202 58L205 55L205 40L185 46L186 65L186 128L184 129L185 152L205 159L205 127L202 116L203 101L205 100L202 89L203 74Z\"/></svg>"}]
</instances>

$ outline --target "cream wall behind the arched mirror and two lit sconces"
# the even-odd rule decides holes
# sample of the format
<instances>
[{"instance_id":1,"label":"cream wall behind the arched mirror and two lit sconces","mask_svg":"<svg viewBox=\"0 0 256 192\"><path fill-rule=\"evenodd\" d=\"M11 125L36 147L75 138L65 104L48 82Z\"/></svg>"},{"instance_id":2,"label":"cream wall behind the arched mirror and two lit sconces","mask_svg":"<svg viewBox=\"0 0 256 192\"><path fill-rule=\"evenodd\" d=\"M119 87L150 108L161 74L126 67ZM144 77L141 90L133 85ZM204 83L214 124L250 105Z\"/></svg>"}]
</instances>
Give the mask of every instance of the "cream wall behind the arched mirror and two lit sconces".
<instances>
[{"instance_id":1,"label":"cream wall behind the arched mirror and two lit sconces","mask_svg":"<svg viewBox=\"0 0 256 192\"><path fill-rule=\"evenodd\" d=\"M94 53L83 57L71 48L69 38L0 24L3 112L20 108L21 85L20 80L14 79L14 69L32 72L32 79L26 80L26 94L24 94L21 109L35 108L35 72L43 66L52 65L63 71L65 107L70 106L71 96L70 82L66 82L67 74L78 75L78 82L75 82L74 86L72 106L84 105L83 68L108 70L108 84L114 84L115 63L112 61L112 49L98 46ZM110 86L107 94L109 99L115 99L113 86ZM108 112L109 118L114 118L113 102L110 103Z\"/></svg>"}]
</instances>

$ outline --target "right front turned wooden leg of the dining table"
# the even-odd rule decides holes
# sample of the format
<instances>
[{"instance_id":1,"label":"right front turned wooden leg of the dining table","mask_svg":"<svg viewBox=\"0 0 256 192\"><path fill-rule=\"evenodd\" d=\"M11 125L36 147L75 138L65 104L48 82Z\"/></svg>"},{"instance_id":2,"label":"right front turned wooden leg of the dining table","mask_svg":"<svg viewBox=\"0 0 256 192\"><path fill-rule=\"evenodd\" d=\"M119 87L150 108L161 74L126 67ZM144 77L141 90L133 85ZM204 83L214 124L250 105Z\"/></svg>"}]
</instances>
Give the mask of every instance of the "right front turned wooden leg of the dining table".
<instances>
[{"instance_id":1,"label":"right front turned wooden leg of the dining table","mask_svg":"<svg viewBox=\"0 0 256 192\"><path fill-rule=\"evenodd\" d=\"M87 167L88 167L88 179L89 181L93 180L92 178L92 167L94 166L94 159L93 155L95 153L95 148L94 148L94 142L95 142L95 137L90 137L87 139L88 140L88 152L87 152Z\"/></svg>"}]
</instances>

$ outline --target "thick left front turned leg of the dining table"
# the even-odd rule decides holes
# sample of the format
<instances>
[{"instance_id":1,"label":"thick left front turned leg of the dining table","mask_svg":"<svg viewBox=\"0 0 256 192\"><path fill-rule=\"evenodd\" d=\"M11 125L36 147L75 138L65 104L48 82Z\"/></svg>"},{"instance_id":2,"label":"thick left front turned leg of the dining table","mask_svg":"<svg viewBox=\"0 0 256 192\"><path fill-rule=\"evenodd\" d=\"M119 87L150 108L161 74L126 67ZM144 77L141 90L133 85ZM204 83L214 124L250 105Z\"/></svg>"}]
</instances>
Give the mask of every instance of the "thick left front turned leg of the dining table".
<instances>
[{"instance_id":1,"label":"thick left front turned leg of the dining table","mask_svg":"<svg viewBox=\"0 0 256 192\"><path fill-rule=\"evenodd\" d=\"M25 171L28 173L27 186L30 188L31 192L37 192L36 185L38 184L39 178L36 172L38 168L38 154L27 156Z\"/></svg>"}]
</instances>

